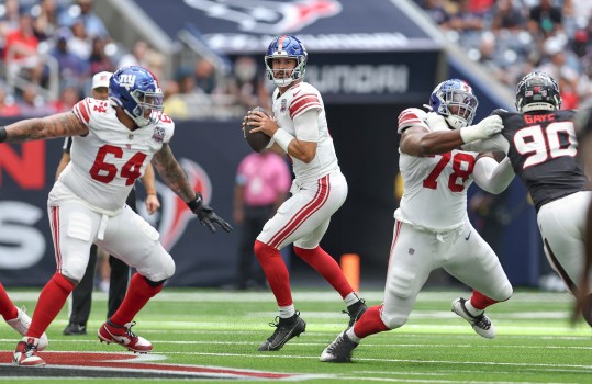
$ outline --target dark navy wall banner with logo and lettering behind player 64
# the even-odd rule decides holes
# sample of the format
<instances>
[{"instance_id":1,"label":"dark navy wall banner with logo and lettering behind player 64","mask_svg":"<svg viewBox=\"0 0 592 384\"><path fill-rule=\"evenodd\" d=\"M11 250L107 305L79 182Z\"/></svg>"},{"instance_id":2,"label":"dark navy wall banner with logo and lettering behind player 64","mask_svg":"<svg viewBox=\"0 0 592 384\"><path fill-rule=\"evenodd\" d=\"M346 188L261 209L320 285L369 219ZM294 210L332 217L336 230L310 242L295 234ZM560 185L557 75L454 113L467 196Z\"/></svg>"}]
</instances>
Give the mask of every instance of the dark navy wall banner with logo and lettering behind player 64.
<instances>
[{"instance_id":1,"label":"dark navy wall banner with logo and lettering behind player 64","mask_svg":"<svg viewBox=\"0 0 592 384\"><path fill-rule=\"evenodd\" d=\"M0 281L7 286L40 286L55 272L46 202L62 143L0 144ZM194 188L203 191L220 216L232 222L234 174L249 153L238 122L179 122L171 148ZM137 191L143 197L141 183ZM169 284L231 283L236 271L237 233L210 234L158 177L157 193L161 208L154 216L146 214L142 201L137 206L159 230L160 241L177 263Z\"/></svg>"}]
</instances>

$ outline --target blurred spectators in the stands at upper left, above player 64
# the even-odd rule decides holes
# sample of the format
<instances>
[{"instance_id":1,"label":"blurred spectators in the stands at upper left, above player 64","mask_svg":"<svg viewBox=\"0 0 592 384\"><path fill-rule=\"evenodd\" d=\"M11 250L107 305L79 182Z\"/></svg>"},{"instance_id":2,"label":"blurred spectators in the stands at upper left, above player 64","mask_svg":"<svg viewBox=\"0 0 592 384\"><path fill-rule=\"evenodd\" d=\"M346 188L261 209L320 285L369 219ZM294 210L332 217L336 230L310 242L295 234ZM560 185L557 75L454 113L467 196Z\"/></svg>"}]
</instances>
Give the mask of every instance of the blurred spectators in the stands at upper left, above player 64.
<instances>
[{"instance_id":1,"label":"blurred spectators in the stands at upper left, above player 64","mask_svg":"<svg viewBox=\"0 0 592 384\"><path fill-rule=\"evenodd\" d=\"M110 37L94 12L97 3L0 2L0 117L69 111L90 94L92 75L129 65L146 67L158 77L165 111L174 117L212 117L224 110L222 118L230 118L255 105L267 105L264 69L254 58L237 58L230 74L221 74L212 60L202 58L166 77L165 57L147 42L127 47ZM234 110L210 108L215 105Z\"/></svg>"}]
</instances>

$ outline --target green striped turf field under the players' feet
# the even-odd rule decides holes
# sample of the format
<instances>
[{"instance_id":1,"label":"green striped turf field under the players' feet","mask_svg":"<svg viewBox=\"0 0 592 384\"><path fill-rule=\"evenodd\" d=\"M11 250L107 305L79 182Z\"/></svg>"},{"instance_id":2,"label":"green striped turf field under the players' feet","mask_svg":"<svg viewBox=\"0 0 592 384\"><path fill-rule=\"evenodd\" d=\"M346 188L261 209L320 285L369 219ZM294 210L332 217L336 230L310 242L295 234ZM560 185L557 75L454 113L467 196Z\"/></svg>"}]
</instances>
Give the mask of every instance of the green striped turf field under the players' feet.
<instances>
[{"instance_id":1,"label":"green striped turf field under the players' feet","mask_svg":"<svg viewBox=\"0 0 592 384\"><path fill-rule=\"evenodd\" d=\"M9 294L32 313L38 292L9 289ZM422 293L409 323L398 330L365 339L350 364L319 361L321 351L348 319L340 314L344 305L337 294L328 290L294 290L297 307L308 323L306 332L279 352L257 351L273 330L268 326L276 316L270 292L165 289L139 314L133 329L153 342L153 358L160 359L158 363L291 373L297 375L284 380L304 383L592 383L592 331L583 321L573 328L568 323L570 295L516 292L510 302L488 310L498 329L493 340L479 337L450 312L450 302L458 295L458 292ZM362 291L362 296L372 305L380 303L382 293ZM48 351L123 352L120 346L101 345L97 340L96 330L107 312L104 294L94 295L88 336L62 335L67 324L64 309L48 329ZM1 351L12 350L18 339L10 327L0 325ZM3 382L29 380L80 382L80 377L24 377Z\"/></svg>"}]
</instances>

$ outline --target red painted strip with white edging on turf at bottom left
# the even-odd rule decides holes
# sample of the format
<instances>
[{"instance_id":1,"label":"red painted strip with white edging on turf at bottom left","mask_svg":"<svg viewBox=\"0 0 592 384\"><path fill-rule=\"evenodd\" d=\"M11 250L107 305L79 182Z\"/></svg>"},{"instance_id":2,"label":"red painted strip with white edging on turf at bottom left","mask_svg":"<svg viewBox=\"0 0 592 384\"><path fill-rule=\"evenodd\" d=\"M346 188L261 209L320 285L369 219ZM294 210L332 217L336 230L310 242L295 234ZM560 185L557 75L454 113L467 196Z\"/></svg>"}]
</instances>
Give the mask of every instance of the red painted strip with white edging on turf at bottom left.
<instances>
[{"instance_id":1,"label":"red painted strip with white edging on turf at bottom left","mask_svg":"<svg viewBox=\"0 0 592 384\"><path fill-rule=\"evenodd\" d=\"M10 363L12 352L0 351L1 377L135 377L135 379L258 379L293 380L303 376L290 373L261 372L222 366L156 363L159 354L96 352L41 352L47 365L16 366Z\"/></svg>"}]
</instances>

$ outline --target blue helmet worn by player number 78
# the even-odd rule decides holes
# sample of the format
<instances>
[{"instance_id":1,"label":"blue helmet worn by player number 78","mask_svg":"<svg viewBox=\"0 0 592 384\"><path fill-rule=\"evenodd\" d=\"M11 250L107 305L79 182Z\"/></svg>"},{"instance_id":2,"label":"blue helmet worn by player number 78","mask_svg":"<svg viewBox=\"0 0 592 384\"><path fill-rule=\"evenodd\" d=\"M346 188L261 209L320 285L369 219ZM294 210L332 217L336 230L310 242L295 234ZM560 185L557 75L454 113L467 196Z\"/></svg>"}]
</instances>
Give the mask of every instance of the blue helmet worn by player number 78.
<instances>
[{"instance_id":1,"label":"blue helmet worn by player number 78","mask_svg":"<svg viewBox=\"0 0 592 384\"><path fill-rule=\"evenodd\" d=\"M471 125L478 105L471 86L459 79L440 82L429 97L432 111L444 116L454 129Z\"/></svg>"}]
</instances>

